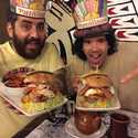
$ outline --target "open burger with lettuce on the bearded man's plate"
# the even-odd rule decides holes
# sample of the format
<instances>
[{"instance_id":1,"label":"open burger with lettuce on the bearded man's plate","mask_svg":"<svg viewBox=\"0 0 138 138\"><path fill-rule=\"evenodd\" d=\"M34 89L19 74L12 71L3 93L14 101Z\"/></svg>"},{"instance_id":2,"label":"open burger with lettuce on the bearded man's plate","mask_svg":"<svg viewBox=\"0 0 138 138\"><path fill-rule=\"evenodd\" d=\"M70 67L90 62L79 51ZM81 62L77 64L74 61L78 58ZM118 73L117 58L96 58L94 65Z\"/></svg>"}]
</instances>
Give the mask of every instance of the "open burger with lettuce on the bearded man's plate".
<instances>
[{"instance_id":1,"label":"open burger with lettuce on the bearded man's plate","mask_svg":"<svg viewBox=\"0 0 138 138\"><path fill-rule=\"evenodd\" d=\"M49 72L32 72L24 78L26 84L22 107L29 113L51 110L64 103L62 82Z\"/></svg>"}]
</instances>

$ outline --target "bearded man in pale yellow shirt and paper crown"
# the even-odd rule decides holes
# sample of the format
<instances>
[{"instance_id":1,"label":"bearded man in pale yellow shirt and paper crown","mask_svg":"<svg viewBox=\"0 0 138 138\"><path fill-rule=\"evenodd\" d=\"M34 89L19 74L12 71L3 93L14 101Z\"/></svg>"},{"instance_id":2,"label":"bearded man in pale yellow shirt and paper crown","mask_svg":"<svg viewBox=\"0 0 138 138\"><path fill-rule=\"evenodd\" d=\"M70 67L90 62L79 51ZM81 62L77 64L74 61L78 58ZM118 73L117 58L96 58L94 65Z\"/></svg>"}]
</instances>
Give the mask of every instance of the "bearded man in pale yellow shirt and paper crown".
<instances>
[{"instance_id":1,"label":"bearded man in pale yellow shirt and paper crown","mask_svg":"<svg viewBox=\"0 0 138 138\"><path fill-rule=\"evenodd\" d=\"M10 41L0 45L0 76L14 68L54 72L63 67L57 49L45 42L46 0L10 0L7 31ZM11 138L34 117L17 114L0 97L0 138ZM8 128L8 130L7 130Z\"/></svg>"}]
</instances>

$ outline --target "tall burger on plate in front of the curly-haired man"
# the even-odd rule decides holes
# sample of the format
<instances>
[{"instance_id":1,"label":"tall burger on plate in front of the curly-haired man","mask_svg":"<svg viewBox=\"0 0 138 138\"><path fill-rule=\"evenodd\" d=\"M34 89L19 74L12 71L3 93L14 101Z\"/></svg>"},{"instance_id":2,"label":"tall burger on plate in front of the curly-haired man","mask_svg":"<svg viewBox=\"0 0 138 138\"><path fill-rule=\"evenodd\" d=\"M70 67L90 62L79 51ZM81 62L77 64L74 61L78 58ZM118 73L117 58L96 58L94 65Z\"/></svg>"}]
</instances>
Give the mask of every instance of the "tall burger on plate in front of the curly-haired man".
<instances>
[{"instance_id":1,"label":"tall burger on plate in front of the curly-haired man","mask_svg":"<svg viewBox=\"0 0 138 138\"><path fill-rule=\"evenodd\" d=\"M79 78L76 107L107 108L114 100L110 78L105 74L89 74Z\"/></svg>"}]
</instances>

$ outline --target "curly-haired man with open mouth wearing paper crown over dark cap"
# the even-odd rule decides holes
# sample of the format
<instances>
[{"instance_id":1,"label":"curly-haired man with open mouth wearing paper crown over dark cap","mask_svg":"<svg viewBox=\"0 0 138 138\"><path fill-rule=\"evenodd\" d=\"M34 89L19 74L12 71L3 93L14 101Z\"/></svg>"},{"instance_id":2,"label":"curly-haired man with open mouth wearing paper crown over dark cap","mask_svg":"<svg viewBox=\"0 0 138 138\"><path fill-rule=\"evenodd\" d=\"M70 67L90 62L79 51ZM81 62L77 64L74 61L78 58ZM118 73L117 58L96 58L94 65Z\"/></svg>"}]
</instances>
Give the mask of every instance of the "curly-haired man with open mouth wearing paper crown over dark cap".
<instances>
[{"instance_id":1,"label":"curly-haired man with open mouth wearing paper crown over dark cap","mask_svg":"<svg viewBox=\"0 0 138 138\"><path fill-rule=\"evenodd\" d=\"M116 40L114 29L106 17L105 0L72 0L71 8L76 30L70 77L74 78L88 72L106 73L114 82L121 108L138 112L138 77L124 83L131 75L124 76L136 67L137 43ZM134 76L137 71L132 72ZM72 78L68 85L71 91L72 85L75 87Z\"/></svg>"}]
</instances>

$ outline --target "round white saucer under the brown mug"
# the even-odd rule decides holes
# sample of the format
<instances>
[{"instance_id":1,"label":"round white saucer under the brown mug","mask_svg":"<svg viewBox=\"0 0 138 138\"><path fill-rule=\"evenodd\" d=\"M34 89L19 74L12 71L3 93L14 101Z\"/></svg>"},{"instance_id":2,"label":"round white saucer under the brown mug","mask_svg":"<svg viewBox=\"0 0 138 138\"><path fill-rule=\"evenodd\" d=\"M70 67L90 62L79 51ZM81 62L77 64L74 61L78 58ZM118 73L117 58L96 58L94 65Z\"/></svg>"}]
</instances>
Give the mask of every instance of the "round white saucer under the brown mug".
<instances>
[{"instance_id":1,"label":"round white saucer under the brown mug","mask_svg":"<svg viewBox=\"0 0 138 138\"><path fill-rule=\"evenodd\" d=\"M99 130L97 130L96 132L94 132L92 135L84 135L84 134L81 134L77 130L77 128L75 127L75 125L74 125L74 117L72 117L65 124L65 131L70 136L72 136L73 138L100 138L100 137L103 137L106 134L107 129L108 129L107 126L102 123L102 126L100 126Z\"/></svg>"}]
</instances>

